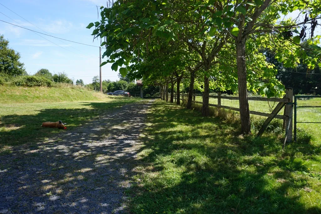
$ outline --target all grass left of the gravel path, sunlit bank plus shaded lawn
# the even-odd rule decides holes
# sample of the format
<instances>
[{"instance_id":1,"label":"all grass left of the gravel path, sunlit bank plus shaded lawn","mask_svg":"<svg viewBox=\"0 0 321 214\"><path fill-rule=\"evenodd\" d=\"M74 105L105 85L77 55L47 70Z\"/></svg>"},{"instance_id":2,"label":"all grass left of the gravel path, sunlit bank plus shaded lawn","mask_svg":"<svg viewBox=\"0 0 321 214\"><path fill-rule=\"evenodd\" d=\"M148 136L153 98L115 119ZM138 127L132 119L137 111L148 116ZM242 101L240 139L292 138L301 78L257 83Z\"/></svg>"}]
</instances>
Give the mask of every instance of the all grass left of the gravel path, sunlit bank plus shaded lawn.
<instances>
[{"instance_id":1,"label":"all grass left of the gravel path, sunlit bank plus shaded lawn","mask_svg":"<svg viewBox=\"0 0 321 214\"><path fill-rule=\"evenodd\" d=\"M0 149L34 143L80 126L112 108L137 101L107 96L80 87L0 86ZM67 123L67 130L42 128L42 122Z\"/></svg>"}]
</instances>

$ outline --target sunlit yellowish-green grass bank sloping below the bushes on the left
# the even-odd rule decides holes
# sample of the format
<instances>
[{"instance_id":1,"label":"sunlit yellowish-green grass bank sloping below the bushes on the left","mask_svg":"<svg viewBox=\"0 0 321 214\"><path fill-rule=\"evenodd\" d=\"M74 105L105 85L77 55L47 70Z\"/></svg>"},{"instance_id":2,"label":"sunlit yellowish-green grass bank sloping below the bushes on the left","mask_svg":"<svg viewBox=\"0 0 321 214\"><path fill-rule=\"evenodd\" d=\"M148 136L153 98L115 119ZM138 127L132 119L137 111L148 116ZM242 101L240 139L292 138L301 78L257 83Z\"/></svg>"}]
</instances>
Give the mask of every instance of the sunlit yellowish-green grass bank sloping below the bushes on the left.
<instances>
[{"instance_id":1,"label":"sunlit yellowish-green grass bank sloping below the bushes on the left","mask_svg":"<svg viewBox=\"0 0 321 214\"><path fill-rule=\"evenodd\" d=\"M60 87L58 87L60 86ZM77 86L16 87L0 86L0 103L45 103L103 100L104 95Z\"/></svg>"}]
</instances>

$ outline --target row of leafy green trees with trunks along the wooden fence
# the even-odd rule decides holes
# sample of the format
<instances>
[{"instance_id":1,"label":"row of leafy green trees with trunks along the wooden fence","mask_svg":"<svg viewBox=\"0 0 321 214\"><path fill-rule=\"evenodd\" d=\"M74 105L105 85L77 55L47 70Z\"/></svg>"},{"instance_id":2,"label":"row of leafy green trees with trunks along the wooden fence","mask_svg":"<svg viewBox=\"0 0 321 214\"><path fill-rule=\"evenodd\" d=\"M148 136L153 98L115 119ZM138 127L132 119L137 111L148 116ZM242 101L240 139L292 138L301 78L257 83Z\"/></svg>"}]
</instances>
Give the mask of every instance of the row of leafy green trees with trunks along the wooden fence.
<instances>
[{"instance_id":1,"label":"row of leafy green trees with trunks along the wooden fence","mask_svg":"<svg viewBox=\"0 0 321 214\"><path fill-rule=\"evenodd\" d=\"M317 0L118 0L101 6L94 38L106 47L103 57L130 79L163 90L189 81L187 108L195 87L203 91L202 114L209 114L209 91L239 94L241 129L250 133L247 92L282 96L283 84L267 51L285 68L320 64L320 7ZM291 12L299 16L291 18ZM285 18L290 17L290 18ZM171 90L173 91L173 90ZM171 101L172 102L172 101Z\"/></svg>"}]
</instances>

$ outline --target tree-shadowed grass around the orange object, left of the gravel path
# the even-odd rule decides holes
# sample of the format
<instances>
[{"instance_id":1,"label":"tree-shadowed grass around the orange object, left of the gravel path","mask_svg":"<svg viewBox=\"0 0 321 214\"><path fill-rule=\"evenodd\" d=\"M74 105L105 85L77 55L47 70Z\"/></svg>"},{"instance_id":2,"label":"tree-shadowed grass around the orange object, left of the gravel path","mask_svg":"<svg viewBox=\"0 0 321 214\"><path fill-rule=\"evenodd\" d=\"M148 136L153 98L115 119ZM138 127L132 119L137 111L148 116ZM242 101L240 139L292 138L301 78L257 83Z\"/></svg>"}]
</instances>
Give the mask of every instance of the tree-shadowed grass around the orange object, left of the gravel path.
<instances>
[{"instance_id":1,"label":"tree-shadowed grass around the orange object, left of the gravel path","mask_svg":"<svg viewBox=\"0 0 321 214\"><path fill-rule=\"evenodd\" d=\"M117 111L118 108L127 103L132 103L133 99L119 99L111 97L110 102L78 102L82 108L59 108L59 103L53 103L55 108L37 110L36 114L31 115L5 115L0 118L0 149L4 145L22 145L28 143L39 142L55 133L64 133L87 123L95 117L108 111ZM32 104L35 105L35 104ZM41 103L37 103L41 106ZM26 108L32 108L26 104ZM67 130L59 130L55 128L43 128L43 122L56 122L62 120L67 123ZM2 128L2 129L1 129Z\"/></svg>"}]
</instances>

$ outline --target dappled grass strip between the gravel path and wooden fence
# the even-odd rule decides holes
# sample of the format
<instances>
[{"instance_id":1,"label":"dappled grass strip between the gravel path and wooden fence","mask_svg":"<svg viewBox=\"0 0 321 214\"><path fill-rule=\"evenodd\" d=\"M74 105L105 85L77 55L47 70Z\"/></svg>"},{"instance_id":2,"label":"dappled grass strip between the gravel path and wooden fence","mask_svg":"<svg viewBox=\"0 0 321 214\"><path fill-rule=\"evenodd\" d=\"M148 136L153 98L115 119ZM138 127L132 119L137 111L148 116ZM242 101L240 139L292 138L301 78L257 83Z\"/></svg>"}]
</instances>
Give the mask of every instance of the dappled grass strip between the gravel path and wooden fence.
<instances>
[{"instance_id":1,"label":"dappled grass strip between the gravel path and wooden fence","mask_svg":"<svg viewBox=\"0 0 321 214\"><path fill-rule=\"evenodd\" d=\"M321 143L240 136L238 123L157 101L139 154L133 213L321 213Z\"/></svg>"}]
</instances>

